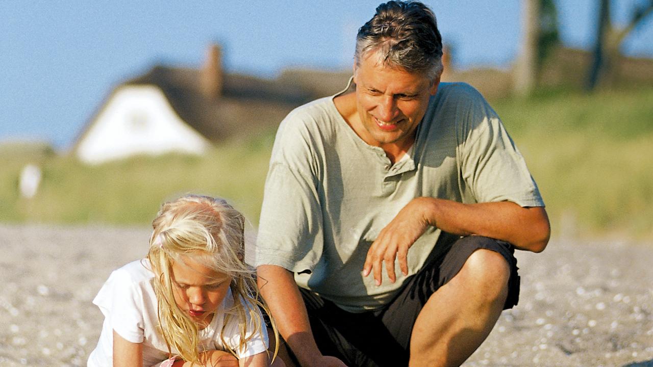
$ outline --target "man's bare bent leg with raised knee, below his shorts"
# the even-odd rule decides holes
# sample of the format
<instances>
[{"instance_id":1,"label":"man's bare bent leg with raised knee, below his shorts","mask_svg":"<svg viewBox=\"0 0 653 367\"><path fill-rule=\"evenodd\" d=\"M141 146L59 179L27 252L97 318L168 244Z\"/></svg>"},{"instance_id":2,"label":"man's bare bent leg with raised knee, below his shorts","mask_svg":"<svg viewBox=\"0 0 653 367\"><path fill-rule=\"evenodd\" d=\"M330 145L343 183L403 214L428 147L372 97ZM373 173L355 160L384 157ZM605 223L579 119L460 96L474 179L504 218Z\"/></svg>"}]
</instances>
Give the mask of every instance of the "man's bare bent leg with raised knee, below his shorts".
<instances>
[{"instance_id":1,"label":"man's bare bent leg with raised knee, below his shorts","mask_svg":"<svg viewBox=\"0 0 653 367\"><path fill-rule=\"evenodd\" d=\"M409 366L459 366L494 327L508 294L511 268L504 256L476 249L420 311Z\"/></svg>"}]
</instances>

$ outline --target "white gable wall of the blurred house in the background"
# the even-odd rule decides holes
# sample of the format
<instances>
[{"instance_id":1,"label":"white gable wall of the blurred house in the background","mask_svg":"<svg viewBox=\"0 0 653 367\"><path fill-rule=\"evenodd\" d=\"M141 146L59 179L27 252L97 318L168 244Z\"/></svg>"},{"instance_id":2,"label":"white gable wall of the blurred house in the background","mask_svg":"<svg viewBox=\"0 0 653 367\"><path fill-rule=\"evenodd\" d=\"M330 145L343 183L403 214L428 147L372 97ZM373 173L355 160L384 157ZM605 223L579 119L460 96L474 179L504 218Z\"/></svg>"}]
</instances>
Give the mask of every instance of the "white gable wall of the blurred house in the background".
<instances>
[{"instance_id":1,"label":"white gable wall of the blurred house in the background","mask_svg":"<svg viewBox=\"0 0 653 367\"><path fill-rule=\"evenodd\" d=\"M135 154L200 154L209 145L177 116L161 89L122 86L91 123L76 154L94 164Z\"/></svg>"}]
</instances>

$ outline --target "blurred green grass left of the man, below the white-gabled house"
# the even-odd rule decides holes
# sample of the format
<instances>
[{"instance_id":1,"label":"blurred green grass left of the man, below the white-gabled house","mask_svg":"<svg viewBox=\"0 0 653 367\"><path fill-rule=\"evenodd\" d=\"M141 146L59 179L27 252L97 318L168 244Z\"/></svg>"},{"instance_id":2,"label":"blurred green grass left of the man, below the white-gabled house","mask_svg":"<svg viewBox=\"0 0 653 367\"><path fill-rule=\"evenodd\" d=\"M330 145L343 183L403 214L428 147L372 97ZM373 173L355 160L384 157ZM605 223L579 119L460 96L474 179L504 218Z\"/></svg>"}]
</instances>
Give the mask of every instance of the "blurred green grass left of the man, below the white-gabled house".
<instances>
[{"instance_id":1,"label":"blurred green grass left of the man, below the white-gabled house","mask_svg":"<svg viewBox=\"0 0 653 367\"><path fill-rule=\"evenodd\" d=\"M11 165L0 172L0 221L149 223L163 200L200 193L228 199L257 223L273 136L230 142L202 157L141 156L97 166L70 156L25 159L5 152ZM26 200L18 197L16 183L31 161L42 163L42 184Z\"/></svg>"}]
</instances>

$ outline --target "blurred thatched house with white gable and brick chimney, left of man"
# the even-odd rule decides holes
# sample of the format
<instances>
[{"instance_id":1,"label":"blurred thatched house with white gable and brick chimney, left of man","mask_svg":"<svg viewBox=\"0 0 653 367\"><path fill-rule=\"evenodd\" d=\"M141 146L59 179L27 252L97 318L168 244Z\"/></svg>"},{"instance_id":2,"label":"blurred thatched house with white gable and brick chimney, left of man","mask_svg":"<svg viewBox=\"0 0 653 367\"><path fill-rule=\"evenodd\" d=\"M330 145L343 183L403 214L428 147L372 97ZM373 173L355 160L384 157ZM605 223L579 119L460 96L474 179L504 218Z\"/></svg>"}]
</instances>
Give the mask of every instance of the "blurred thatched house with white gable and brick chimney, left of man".
<instances>
[{"instance_id":1,"label":"blurred thatched house with white gable and brick chimney, left of man","mask_svg":"<svg viewBox=\"0 0 653 367\"><path fill-rule=\"evenodd\" d=\"M287 75L227 74L220 59L212 46L202 69L157 65L119 84L86 124L74 153L87 163L202 153L214 142L273 128L296 106L337 91L315 81L308 88ZM346 74L332 75L346 81Z\"/></svg>"}]
</instances>

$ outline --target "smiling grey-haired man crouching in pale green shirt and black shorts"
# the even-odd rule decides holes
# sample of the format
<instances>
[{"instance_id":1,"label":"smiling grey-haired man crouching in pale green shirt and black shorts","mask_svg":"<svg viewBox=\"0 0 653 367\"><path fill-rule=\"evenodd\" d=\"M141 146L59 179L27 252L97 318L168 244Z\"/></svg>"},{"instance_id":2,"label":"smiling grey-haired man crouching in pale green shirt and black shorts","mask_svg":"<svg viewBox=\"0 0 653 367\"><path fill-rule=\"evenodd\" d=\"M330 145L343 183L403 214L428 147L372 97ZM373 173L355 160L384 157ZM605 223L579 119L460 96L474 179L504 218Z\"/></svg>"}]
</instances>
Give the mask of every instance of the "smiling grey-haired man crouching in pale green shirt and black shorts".
<instances>
[{"instance_id":1,"label":"smiling grey-haired man crouching in pale green shirt and black shorts","mask_svg":"<svg viewBox=\"0 0 653 367\"><path fill-rule=\"evenodd\" d=\"M462 364L517 304L513 247L549 240L524 159L477 91L439 83L441 50L430 9L382 4L355 92L279 126L256 264L301 366Z\"/></svg>"}]
</instances>

